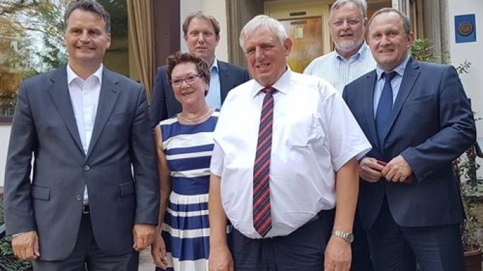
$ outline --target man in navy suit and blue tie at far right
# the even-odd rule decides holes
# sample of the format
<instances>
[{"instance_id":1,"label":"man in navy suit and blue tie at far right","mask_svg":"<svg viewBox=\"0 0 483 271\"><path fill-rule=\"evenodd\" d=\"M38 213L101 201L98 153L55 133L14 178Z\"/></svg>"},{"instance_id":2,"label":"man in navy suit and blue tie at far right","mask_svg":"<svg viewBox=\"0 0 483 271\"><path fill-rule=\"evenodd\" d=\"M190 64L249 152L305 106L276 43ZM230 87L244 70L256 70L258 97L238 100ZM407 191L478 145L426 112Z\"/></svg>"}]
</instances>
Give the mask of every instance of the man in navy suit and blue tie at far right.
<instances>
[{"instance_id":1,"label":"man in navy suit and blue tie at far right","mask_svg":"<svg viewBox=\"0 0 483 271\"><path fill-rule=\"evenodd\" d=\"M375 270L463 270L451 162L475 142L475 122L456 69L413 60L413 39L402 12L375 12L377 68L344 88L373 145L360 161L360 215Z\"/></svg>"}]
</instances>

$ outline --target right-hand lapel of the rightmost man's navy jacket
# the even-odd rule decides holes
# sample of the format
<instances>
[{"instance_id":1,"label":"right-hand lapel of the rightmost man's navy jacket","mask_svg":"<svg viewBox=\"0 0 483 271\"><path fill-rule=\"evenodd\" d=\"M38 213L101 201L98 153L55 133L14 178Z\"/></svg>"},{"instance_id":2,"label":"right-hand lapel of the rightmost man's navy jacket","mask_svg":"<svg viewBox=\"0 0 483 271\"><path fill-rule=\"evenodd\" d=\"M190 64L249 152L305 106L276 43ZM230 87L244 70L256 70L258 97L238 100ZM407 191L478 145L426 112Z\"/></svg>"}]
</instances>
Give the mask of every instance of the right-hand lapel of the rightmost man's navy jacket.
<instances>
[{"instance_id":1,"label":"right-hand lapel of the rightmost man's navy jacket","mask_svg":"<svg viewBox=\"0 0 483 271\"><path fill-rule=\"evenodd\" d=\"M399 113L401 112L405 101L408 99L408 96L412 91L412 86L414 86L414 83L416 82L419 73L421 73L421 70L419 69L419 63L410 58L408 65L404 70L403 80L401 81L401 86L399 87L396 101L394 101L394 107L392 107L392 117L385 138L388 137L392 125L394 125L394 122L396 121L397 116L399 116Z\"/></svg>"}]
</instances>

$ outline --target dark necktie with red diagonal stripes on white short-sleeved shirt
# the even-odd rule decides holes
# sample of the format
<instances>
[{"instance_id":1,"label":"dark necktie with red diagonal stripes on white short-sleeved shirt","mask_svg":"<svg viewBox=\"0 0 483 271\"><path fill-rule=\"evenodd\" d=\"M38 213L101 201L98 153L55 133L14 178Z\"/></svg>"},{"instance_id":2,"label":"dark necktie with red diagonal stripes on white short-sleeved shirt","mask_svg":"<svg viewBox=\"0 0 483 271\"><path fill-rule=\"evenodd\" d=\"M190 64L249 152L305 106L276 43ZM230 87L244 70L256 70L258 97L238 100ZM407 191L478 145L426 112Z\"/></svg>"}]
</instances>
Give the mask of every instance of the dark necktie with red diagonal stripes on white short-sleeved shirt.
<instances>
[{"instance_id":1,"label":"dark necktie with red diagonal stripes on white short-sleeved shirt","mask_svg":"<svg viewBox=\"0 0 483 271\"><path fill-rule=\"evenodd\" d=\"M275 92L273 88L261 90L265 93L260 114L257 153L253 165L253 227L264 237L272 229L270 212L270 153L272 153L272 124Z\"/></svg>"}]
</instances>

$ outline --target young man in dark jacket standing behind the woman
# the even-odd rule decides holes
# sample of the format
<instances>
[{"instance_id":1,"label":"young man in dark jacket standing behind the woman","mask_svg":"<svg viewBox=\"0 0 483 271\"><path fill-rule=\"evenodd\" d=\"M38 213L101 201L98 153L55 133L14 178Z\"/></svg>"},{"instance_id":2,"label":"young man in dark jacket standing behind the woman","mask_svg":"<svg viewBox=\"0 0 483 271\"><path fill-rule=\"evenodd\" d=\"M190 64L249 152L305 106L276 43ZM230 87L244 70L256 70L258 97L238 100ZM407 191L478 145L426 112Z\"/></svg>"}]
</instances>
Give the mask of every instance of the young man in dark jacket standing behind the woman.
<instances>
[{"instance_id":1,"label":"young man in dark jacket standing behind the woman","mask_svg":"<svg viewBox=\"0 0 483 271\"><path fill-rule=\"evenodd\" d=\"M190 14L182 24L182 31L189 53L202 57L211 67L207 103L220 109L228 91L250 79L248 71L216 59L215 48L220 41L220 24L213 16L202 12ZM153 127L161 120L181 112L181 104L174 98L171 83L167 79L166 66L158 68L151 100Z\"/></svg>"}]
</instances>

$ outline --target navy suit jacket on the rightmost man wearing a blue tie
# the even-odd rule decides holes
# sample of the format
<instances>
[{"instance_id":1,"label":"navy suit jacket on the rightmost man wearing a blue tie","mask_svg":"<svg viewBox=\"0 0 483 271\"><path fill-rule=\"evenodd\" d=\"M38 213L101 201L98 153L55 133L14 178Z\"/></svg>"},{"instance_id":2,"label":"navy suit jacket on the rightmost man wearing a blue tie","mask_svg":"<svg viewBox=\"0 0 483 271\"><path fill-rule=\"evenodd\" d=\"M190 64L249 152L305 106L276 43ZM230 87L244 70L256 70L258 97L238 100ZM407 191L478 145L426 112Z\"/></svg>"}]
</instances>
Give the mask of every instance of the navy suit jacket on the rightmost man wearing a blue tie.
<instances>
[{"instance_id":1,"label":"navy suit jacket on the rightmost man wearing a blue tie","mask_svg":"<svg viewBox=\"0 0 483 271\"><path fill-rule=\"evenodd\" d=\"M361 179L359 208L372 227L386 196L394 220L403 227L462 221L459 183L451 162L475 142L468 98L453 66L410 60L379 146L373 112L375 70L344 88L343 96L373 149L366 155L389 162L402 155L413 171L412 183Z\"/></svg>"}]
</instances>

